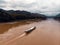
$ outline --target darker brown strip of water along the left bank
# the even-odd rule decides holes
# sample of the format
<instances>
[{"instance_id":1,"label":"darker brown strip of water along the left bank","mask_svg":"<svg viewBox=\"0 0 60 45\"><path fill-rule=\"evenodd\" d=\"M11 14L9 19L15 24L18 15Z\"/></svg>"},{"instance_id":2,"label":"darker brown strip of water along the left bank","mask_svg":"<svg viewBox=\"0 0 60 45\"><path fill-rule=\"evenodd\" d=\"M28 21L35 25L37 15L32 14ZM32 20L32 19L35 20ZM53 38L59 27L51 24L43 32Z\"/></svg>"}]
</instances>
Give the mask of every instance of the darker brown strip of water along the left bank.
<instances>
[{"instance_id":1,"label":"darker brown strip of water along the left bank","mask_svg":"<svg viewBox=\"0 0 60 45\"><path fill-rule=\"evenodd\" d=\"M19 22L0 23L0 34L7 32L10 28L30 24L33 22L37 22L37 20L35 20L35 21L34 20L29 20L29 21L23 20L23 21L19 21Z\"/></svg>"}]
</instances>

